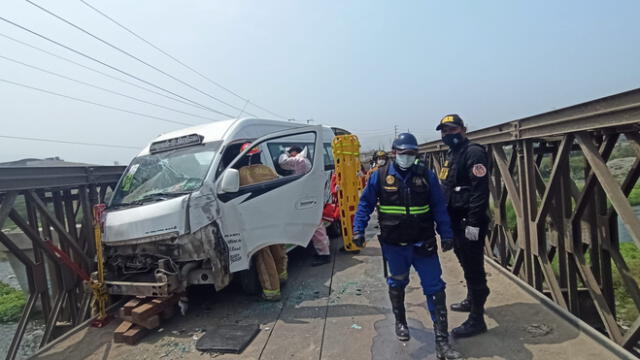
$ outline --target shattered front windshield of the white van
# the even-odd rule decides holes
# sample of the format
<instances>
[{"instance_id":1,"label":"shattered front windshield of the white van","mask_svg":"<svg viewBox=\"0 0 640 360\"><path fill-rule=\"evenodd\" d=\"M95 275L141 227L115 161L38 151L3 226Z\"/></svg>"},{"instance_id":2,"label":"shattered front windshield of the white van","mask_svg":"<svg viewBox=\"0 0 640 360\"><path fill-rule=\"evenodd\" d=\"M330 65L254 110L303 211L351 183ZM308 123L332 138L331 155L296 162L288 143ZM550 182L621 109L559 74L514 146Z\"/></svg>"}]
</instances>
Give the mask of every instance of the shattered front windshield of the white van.
<instances>
[{"instance_id":1,"label":"shattered front windshield of the white van","mask_svg":"<svg viewBox=\"0 0 640 360\"><path fill-rule=\"evenodd\" d=\"M218 146L192 146L133 159L109 206L142 204L199 189Z\"/></svg>"}]
</instances>

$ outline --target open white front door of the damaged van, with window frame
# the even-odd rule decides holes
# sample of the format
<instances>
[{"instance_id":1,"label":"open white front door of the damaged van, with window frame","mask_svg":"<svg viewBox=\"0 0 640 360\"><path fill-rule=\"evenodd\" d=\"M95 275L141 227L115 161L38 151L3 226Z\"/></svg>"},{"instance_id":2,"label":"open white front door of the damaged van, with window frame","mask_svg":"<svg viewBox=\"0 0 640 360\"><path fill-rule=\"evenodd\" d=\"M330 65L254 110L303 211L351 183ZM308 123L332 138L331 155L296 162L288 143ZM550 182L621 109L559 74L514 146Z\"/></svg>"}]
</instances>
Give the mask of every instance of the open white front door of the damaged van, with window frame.
<instances>
[{"instance_id":1,"label":"open white front door of the damaged van, with window frame","mask_svg":"<svg viewBox=\"0 0 640 360\"><path fill-rule=\"evenodd\" d=\"M251 256L265 246L309 243L324 205L322 145L321 126L271 133L240 152L218 176L220 225L232 272L247 269ZM292 146L303 148L293 172L279 163ZM247 170L255 175L250 183Z\"/></svg>"}]
</instances>

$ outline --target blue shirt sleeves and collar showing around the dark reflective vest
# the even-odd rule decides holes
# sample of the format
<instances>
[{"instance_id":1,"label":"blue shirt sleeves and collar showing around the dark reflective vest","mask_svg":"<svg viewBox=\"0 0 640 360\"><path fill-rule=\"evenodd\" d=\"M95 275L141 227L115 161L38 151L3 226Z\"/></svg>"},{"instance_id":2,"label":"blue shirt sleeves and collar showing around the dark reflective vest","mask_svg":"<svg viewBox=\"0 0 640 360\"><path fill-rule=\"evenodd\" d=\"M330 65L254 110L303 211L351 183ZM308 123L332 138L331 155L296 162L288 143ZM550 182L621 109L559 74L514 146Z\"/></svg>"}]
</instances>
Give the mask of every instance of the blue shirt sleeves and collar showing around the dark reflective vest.
<instances>
[{"instance_id":1,"label":"blue shirt sleeves and collar showing around the dark reflective vest","mask_svg":"<svg viewBox=\"0 0 640 360\"><path fill-rule=\"evenodd\" d=\"M426 170L425 178L429 181L429 187L431 189L431 211L433 211L433 218L436 221L438 234L442 239L453 239L453 231L451 230L451 220L447 213L447 204L444 200L444 194L440 188L440 183L436 178L436 175L431 170ZM364 229L367 228L371 213L376 208L378 203L378 197L380 196L380 170L375 171L369 177L367 186L364 188L362 195L360 196L360 203L358 204L358 210L356 216L353 219L353 233L364 233ZM404 184L409 184L413 173L412 171L406 171L403 176L401 172L396 169L396 164L389 166L389 175L394 175L398 179L401 179Z\"/></svg>"}]
</instances>

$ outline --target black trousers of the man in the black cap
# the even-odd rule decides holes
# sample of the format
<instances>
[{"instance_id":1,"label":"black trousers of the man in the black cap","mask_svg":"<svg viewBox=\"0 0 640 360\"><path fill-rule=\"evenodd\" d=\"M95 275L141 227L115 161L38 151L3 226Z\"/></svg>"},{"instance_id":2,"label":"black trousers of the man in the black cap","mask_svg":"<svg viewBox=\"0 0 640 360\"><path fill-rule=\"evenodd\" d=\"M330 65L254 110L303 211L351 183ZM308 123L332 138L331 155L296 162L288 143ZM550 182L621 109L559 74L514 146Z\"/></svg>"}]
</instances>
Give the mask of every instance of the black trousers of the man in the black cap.
<instances>
[{"instance_id":1,"label":"black trousers of the man in the black cap","mask_svg":"<svg viewBox=\"0 0 640 360\"><path fill-rule=\"evenodd\" d=\"M453 251L458 257L467 283L468 295L471 297L472 311L483 312L484 304L489 296L487 273L484 270L484 242L488 224L480 226L478 240L465 237L465 221L463 218L452 218Z\"/></svg>"}]
</instances>

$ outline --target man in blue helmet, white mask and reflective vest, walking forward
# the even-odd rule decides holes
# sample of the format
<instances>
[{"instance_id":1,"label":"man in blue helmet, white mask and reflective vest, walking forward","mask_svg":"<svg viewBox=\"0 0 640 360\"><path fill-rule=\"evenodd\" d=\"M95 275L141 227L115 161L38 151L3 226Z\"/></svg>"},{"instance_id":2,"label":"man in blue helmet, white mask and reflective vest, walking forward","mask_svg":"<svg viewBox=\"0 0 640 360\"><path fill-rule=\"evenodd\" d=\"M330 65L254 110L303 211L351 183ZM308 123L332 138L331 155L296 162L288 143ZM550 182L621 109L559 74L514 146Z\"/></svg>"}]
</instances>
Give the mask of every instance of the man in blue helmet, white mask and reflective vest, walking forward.
<instances>
[{"instance_id":1,"label":"man in blue helmet, white mask and reflective vest, walking forward","mask_svg":"<svg viewBox=\"0 0 640 360\"><path fill-rule=\"evenodd\" d=\"M396 336L408 341L404 308L411 266L420 276L434 323L438 359L461 359L449 345L445 282L438 259L436 226L444 251L453 247L453 231L444 195L435 174L416 164L418 142L402 133L393 142L395 161L376 170L367 181L354 218L353 242L362 247L370 215L378 207L382 256L389 265L389 298L396 319Z\"/></svg>"}]
</instances>

